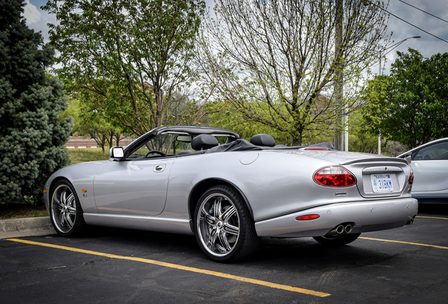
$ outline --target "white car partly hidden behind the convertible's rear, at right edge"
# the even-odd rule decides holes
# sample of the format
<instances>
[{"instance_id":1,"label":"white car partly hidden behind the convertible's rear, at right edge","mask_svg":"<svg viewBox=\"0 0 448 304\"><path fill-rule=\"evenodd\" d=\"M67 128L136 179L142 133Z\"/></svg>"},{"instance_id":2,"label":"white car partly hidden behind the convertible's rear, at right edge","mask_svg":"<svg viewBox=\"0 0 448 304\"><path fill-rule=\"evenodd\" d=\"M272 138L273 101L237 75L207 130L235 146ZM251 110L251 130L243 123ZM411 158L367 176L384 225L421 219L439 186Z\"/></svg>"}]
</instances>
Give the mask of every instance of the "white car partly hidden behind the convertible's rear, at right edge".
<instances>
[{"instance_id":1,"label":"white car partly hidden behind the convertible's rear, at right edge","mask_svg":"<svg viewBox=\"0 0 448 304\"><path fill-rule=\"evenodd\" d=\"M398 156L411 163L411 195L418 203L448 204L448 137L430 141Z\"/></svg>"}]
</instances>

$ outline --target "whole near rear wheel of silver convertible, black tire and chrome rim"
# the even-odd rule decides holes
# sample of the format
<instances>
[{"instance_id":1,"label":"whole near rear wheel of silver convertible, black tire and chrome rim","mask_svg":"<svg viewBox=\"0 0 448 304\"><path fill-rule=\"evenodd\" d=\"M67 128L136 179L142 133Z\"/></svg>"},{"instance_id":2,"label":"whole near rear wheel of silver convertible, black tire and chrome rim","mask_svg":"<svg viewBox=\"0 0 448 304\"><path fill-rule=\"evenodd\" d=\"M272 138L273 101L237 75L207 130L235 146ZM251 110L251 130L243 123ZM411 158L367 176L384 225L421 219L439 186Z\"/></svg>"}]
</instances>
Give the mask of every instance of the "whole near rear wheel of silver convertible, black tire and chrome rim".
<instances>
[{"instance_id":1,"label":"whole near rear wheel of silver convertible, black tire and chrome rim","mask_svg":"<svg viewBox=\"0 0 448 304\"><path fill-rule=\"evenodd\" d=\"M199 198L194 226L199 247L216 262L243 260L259 245L249 208L230 186L213 186Z\"/></svg>"}]
</instances>

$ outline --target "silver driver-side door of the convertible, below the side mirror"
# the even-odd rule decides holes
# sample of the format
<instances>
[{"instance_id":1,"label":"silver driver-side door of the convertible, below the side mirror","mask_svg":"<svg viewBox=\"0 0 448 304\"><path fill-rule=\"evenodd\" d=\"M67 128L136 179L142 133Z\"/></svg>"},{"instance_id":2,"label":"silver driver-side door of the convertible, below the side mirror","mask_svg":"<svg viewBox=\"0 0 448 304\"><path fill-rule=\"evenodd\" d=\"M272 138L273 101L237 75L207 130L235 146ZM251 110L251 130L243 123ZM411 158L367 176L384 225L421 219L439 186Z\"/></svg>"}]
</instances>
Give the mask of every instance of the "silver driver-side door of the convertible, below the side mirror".
<instances>
[{"instance_id":1,"label":"silver driver-side door of the convertible, below the side mirror","mask_svg":"<svg viewBox=\"0 0 448 304\"><path fill-rule=\"evenodd\" d=\"M154 216L163 211L175 158L110 161L94 178L99 213Z\"/></svg>"}]
</instances>

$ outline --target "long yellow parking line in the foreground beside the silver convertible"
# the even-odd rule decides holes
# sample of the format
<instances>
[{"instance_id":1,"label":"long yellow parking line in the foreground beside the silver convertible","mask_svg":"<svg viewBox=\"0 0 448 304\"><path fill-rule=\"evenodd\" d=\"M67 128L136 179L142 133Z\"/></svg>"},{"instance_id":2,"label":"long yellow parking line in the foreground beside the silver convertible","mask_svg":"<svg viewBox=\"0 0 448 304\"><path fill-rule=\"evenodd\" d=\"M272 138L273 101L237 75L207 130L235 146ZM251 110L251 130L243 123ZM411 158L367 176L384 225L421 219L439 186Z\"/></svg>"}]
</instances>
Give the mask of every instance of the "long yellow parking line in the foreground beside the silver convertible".
<instances>
[{"instance_id":1,"label":"long yellow parking line in the foreground beside the silver convertible","mask_svg":"<svg viewBox=\"0 0 448 304\"><path fill-rule=\"evenodd\" d=\"M90 254L90 255L100 255L100 256L107 257L107 258L116 258L116 259L121 259L121 260L132 260L132 261L136 261L136 262L146 262L146 263L153 264L153 265L158 265L158 266L163 266L163 267L170 267L170 268L174 268L174 269L178 269L178 270L185 270L185 271L189 271L189 272L197 272L197 273L201 273L201 274L209 274L209 275L212 275L212 276L215 276L215 277L223 277L225 279L234 279L236 281L244 281L246 283L266 286L266 287L275 288L275 289L282 289L282 290L285 290L285 291L293 291L293 292L297 292L297 293L305 293L305 294L308 294L308 295L311 295L311 296L318 296L318 297L331 296L330 293L322 293L322 292L319 292L319 291L311 291L309 289L301 289L301 288L287 286L287 285L282 285L282 284L275 284L275 283L271 283L271 282L268 282L268 281L261 281L261 280L258 280L258 279L249 279L247 277L239 277L239 276L235 276L235 275L232 275L232 274L225 274L223 272L215 272L215 271L211 271L211 270L202 270L200 268L187 267L187 266L182 266L182 265L177 265L177 264L171 264L171 263L168 263L168 262L161 262L161 261L157 261L157 260L148 260L148 259L145 259L145 258L127 257L127 256L123 256L123 255L113 255L113 254L101 253L101 252L97 252L97 251L87 251L87 250L84 250L84 249L78 249L78 248L66 247L66 246L59 246L59 245L54 245L54 244L49 244L49 243L39 243L39 242L35 242L35 241L27 241L27 240L22 240L22 239L5 239L5 240L6 241L15 241L15 242L19 242L19 243L27 243L27 244L30 244L30 245L58 248L58 249L66 250L66 251L75 251L75 252L78 252L78 253L87 253L87 254Z\"/></svg>"}]
</instances>

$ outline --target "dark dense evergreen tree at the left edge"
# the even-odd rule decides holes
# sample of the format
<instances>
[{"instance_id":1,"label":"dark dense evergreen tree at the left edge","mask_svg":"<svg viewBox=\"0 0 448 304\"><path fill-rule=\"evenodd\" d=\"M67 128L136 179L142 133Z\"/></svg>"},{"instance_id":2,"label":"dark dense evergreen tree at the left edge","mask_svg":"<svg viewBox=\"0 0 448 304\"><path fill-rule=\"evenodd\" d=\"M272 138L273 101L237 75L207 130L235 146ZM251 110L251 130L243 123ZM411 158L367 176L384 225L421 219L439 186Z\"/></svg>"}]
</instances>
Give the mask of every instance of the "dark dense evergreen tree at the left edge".
<instances>
[{"instance_id":1,"label":"dark dense evergreen tree at the left edge","mask_svg":"<svg viewBox=\"0 0 448 304\"><path fill-rule=\"evenodd\" d=\"M72 123L63 85L46 75L54 51L23 18L22 0L0 1L0 203L42 200L44 182L69 163Z\"/></svg>"}]
</instances>

